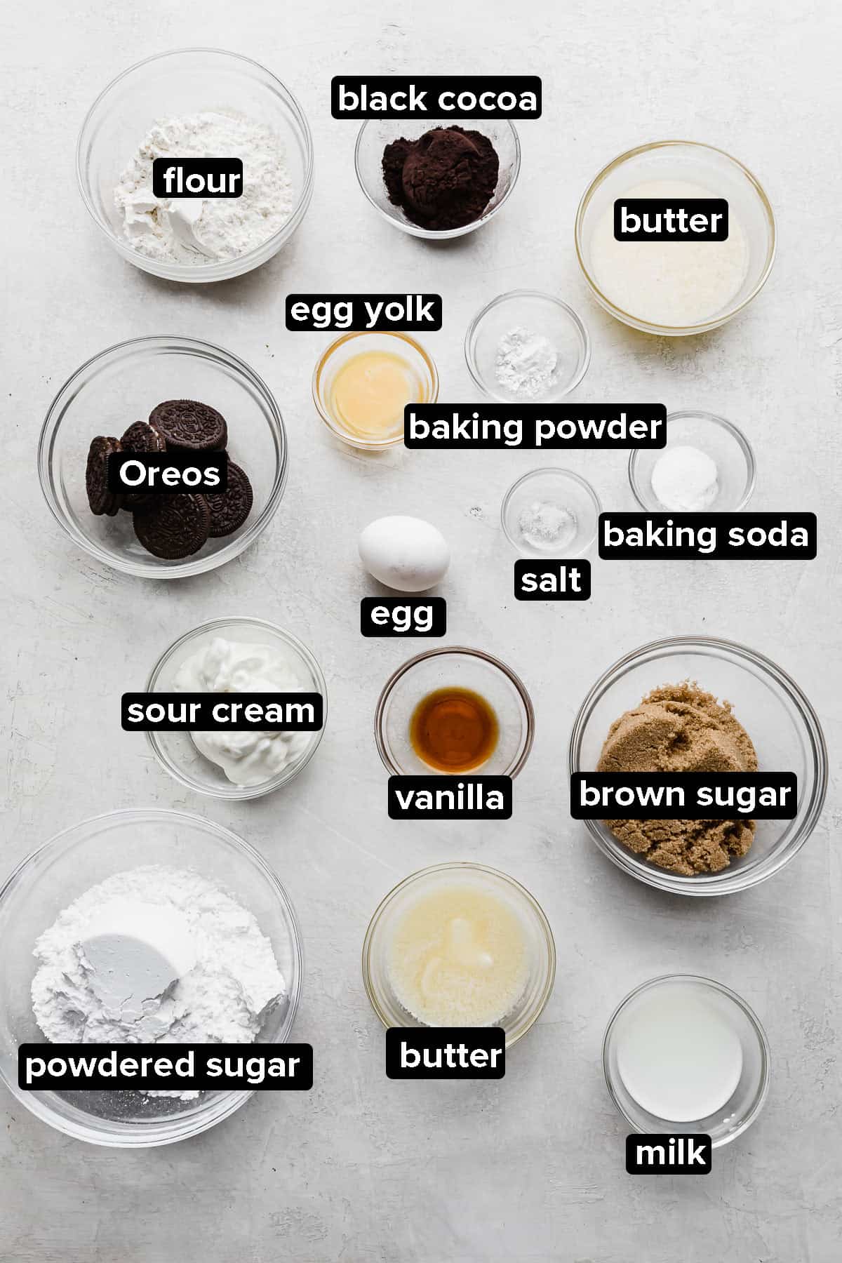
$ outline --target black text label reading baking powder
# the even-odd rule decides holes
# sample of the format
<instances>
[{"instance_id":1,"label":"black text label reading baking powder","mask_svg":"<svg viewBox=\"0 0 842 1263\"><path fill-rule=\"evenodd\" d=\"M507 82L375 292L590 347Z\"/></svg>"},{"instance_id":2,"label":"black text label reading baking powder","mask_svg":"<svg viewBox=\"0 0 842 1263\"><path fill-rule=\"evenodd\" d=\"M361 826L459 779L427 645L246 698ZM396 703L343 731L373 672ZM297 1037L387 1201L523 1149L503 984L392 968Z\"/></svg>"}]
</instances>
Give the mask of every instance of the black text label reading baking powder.
<instances>
[{"instance_id":1,"label":"black text label reading baking powder","mask_svg":"<svg viewBox=\"0 0 842 1263\"><path fill-rule=\"evenodd\" d=\"M663 403L406 404L406 447L664 447Z\"/></svg>"}]
</instances>

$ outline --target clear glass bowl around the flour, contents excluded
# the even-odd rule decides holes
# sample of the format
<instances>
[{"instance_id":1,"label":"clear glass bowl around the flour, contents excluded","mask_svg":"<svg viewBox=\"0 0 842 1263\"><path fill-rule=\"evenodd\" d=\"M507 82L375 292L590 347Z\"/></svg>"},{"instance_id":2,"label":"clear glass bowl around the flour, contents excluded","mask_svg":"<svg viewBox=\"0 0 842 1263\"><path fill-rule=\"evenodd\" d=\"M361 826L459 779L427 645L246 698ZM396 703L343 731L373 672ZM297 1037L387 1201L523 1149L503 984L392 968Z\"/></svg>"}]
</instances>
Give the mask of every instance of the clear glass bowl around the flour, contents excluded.
<instances>
[{"instance_id":1,"label":"clear glass bowl around the flour, contents excluded","mask_svg":"<svg viewBox=\"0 0 842 1263\"><path fill-rule=\"evenodd\" d=\"M278 232L236 259L199 264L149 259L122 235L115 186L155 120L202 110L245 115L280 136L295 197L292 213ZM167 280L228 280L271 259L304 218L313 196L313 143L298 101L258 62L220 48L178 48L130 66L100 92L80 131L76 174L95 224L129 263Z\"/></svg>"}]
</instances>

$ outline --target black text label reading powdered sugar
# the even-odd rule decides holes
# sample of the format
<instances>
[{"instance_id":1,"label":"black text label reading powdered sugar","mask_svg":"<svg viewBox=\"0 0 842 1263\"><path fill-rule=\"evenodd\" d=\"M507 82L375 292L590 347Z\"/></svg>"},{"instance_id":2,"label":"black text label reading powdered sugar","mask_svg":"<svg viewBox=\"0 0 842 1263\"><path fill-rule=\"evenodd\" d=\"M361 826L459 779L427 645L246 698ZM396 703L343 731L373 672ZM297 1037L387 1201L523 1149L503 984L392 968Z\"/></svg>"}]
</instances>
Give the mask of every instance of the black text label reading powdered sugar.
<instances>
[{"instance_id":1,"label":"black text label reading powdered sugar","mask_svg":"<svg viewBox=\"0 0 842 1263\"><path fill-rule=\"evenodd\" d=\"M164 1052L165 1050L165 1052ZM309 1091L309 1043L21 1043L24 1091Z\"/></svg>"}]
</instances>

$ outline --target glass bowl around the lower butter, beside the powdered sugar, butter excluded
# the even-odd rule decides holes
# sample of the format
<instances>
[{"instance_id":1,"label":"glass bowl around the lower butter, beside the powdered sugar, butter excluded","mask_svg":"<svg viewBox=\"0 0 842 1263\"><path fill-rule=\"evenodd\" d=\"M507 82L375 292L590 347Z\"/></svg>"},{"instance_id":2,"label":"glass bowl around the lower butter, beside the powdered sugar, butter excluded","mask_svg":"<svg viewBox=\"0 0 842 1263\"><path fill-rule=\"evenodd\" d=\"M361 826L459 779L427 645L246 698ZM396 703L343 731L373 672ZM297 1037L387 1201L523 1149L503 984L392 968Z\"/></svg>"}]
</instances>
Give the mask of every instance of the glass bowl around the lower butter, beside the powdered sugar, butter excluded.
<instances>
[{"instance_id":1,"label":"glass bowl around the lower butter, beside the powdered sugar, butter excluded","mask_svg":"<svg viewBox=\"0 0 842 1263\"><path fill-rule=\"evenodd\" d=\"M506 1048L516 1043L535 1024L552 995L555 980L555 942L553 931L537 899L514 878L483 864L436 864L404 878L385 899L369 923L362 945L362 980L371 1007L385 1026L424 1027L395 995L389 979L389 941L406 909L423 895L441 887L476 885L501 897L516 913L529 945L529 980L514 1009L500 1019L506 1033Z\"/></svg>"}]
</instances>

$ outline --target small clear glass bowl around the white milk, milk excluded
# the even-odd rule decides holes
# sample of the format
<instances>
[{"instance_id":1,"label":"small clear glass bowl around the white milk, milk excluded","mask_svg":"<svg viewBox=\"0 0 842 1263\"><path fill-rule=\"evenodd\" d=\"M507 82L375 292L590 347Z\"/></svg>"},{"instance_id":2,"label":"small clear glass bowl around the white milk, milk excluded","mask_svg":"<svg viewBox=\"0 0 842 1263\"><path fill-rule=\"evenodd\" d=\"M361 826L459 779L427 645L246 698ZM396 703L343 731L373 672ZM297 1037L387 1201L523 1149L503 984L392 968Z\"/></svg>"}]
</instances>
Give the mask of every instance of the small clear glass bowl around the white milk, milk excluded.
<instances>
[{"instance_id":1,"label":"small clear glass bowl around the white milk, milk excluded","mask_svg":"<svg viewBox=\"0 0 842 1263\"><path fill-rule=\"evenodd\" d=\"M622 1038L624 1023L634 1015L639 1005L645 1003L651 991L677 986L698 988L707 1003L725 1018L737 1034L742 1047L742 1072L730 1100L707 1118L682 1123L658 1118L656 1114L650 1114L643 1105L639 1105L626 1089L617 1066L617 1045ZM747 1127L751 1127L762 1109L769 1091L769 1043L760 1022L746 1002L735 991L709 978L698 978L693 974L667 974L663 978L653 978L626 995L625 1000L615 1009L605 1032L602 1067L614 1104L635 1132L661 1135L669 1133L709 1135L715 1149L730 1144Z\"/></svg>"}]
</instances>

